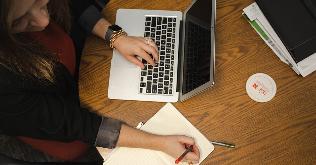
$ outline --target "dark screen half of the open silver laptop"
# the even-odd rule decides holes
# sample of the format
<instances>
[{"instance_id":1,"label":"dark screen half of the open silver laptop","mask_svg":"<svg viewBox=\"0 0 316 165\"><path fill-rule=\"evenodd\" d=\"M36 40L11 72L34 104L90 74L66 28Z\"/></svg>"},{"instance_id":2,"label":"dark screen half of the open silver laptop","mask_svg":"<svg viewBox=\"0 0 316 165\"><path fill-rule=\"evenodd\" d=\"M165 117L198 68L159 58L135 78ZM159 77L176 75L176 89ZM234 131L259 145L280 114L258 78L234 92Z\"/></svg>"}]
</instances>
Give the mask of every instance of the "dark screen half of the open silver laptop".
<instances>
[{"instance_id":1,"label":"dark screen half of the open silver laptop","mask_svg":"<svg viewBox=\"0 0 316 165\"><path fill-rule=\"evenodd\" d=\"M214 84L215 0L193 0L183 17L179 102Z\"/></svg>"}]
</instances>

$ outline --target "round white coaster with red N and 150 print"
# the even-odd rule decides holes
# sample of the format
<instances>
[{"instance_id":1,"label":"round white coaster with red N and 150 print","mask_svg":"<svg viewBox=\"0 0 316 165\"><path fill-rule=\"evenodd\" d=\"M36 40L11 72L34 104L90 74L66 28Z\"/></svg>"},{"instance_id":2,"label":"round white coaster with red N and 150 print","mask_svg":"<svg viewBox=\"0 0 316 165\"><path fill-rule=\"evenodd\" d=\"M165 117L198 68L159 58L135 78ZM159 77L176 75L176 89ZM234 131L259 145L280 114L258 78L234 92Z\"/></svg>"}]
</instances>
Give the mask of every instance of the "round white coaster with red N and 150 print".
<instances>
[{"instance_id":1,"label":"round white coaster with red N and 150 print","mask_svg":"<svg viewBox=\"0 0 316 165\"><path fill-rule=\"evenodd\" d=\"M276 95L276 83L269 75L256 73L247 80L246 91L252 100L267 102Z\"/></svg>"}]
</instances>

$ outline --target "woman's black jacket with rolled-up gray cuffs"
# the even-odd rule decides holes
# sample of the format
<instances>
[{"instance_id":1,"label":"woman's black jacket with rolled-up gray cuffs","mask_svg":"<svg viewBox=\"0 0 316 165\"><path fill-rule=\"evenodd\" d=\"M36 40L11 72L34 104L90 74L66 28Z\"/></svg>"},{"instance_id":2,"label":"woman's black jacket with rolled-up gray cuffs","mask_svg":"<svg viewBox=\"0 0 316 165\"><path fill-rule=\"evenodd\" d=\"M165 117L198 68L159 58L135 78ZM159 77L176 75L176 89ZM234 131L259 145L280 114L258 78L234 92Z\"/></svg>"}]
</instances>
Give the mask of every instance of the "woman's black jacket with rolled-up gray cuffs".
<instances>
[{"instance_id":1,"label":"woman's black jacket with rolled-up gray cuffs","mask_svg":"<svg viewBox=\"0 0 316 165\"><path fill-rule=\"evenodd\" d=\"M104 17L87 2L73 1L70 4L74 18L70 36L76 49L76 75L84 44L79 33L90 34L96 22ZM114 147L120 121L102 118L80 107L76 76L73 79L61 63L57 72L57 83L43 86L31 79L23 80L0 66L0 129L10 136L62 142L81 140L90 145Z\"/></svg>"}]
</instances>

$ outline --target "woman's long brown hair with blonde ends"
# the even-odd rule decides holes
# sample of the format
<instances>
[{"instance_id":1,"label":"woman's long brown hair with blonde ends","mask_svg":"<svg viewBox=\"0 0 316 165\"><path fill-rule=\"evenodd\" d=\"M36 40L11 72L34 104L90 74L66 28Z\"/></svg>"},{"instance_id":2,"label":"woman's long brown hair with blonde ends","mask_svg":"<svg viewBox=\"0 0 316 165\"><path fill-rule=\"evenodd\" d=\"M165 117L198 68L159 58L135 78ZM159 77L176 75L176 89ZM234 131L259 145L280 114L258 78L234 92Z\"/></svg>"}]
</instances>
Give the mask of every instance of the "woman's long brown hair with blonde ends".
<instances>
[{"instance_id":1,"label":"woman's long brown hair with blonde ends","mask_svg":"<svg viewBox=\"0 0 316 165\"><path fill-rule=\"evenodd\" d=\"M16 3L16 0L0 0L0 66L22 80L31 78L41 85L55 83L58 54L49 52L27 32L10 33ZM49 1L47 9L50 19L69 33L71 16L67 1Z\"/></svg>"}]
</instances>

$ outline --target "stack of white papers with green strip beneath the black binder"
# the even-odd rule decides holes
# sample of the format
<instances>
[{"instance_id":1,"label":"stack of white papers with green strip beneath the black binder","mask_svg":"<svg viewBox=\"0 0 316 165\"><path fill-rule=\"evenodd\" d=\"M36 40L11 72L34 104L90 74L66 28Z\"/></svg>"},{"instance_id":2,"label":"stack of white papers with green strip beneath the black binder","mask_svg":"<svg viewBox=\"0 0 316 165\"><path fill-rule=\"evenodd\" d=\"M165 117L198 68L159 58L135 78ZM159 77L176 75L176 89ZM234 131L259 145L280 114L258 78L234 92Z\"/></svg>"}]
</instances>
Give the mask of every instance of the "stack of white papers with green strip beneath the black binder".
<instances>
[{"instance_id":1,"label":"stack of white papers with green strip beneath the black binder","mask_svg":"<svg viewBox=\"0 0 316 165\"><path fill-rule=\"evenodd\" d=\"M303 77L316 70L316 52L304 60L296 63L292 58L281 39L278 37L272 26L265 18L264 14L258 7L257 3L252 3L243 9L243 16L248 20L250 25L257 31L265 43L276 53L284 63Z\"/></svg>"}]
</instances>

